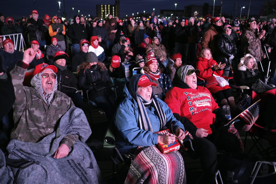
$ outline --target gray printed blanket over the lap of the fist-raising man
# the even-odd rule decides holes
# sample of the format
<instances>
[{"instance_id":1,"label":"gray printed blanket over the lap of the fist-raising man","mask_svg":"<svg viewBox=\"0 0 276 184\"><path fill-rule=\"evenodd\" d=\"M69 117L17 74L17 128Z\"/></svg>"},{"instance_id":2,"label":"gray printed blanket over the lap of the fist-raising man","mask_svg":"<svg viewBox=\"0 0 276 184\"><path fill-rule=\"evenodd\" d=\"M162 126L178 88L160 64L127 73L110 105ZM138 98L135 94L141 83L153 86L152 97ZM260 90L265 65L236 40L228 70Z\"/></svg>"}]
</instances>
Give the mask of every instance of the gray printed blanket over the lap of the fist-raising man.
<instances>
[{"instance_id":1,"label":"gray printed blanket over the lap of the fist-raising man","mask_svg":"<svg viewBox=\"0 0 276 184\"><path fill-rule=\"evenodd\" d=\"M79 139L69 150L68 156L54 158L60 141L68 134ZM84 112L72 107L62 116L57 130L37 143L11 140L7 146L9 158L32 160L35 164L20 171L17 183L102 183L95 157L85 141L91 129ZM0 153L0 183L12 183L16 168L5 167L4 155Z\"/></svg>"}]
</instances>

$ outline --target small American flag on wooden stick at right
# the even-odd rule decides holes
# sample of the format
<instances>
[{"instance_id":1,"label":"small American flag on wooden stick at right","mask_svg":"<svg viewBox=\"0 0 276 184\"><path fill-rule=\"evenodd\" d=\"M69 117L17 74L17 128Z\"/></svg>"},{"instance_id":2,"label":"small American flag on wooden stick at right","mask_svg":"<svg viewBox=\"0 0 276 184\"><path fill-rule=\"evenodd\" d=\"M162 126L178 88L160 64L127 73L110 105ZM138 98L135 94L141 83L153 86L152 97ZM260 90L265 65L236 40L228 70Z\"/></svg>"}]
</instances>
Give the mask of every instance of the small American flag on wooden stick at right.
<instances>
[{"instance_id":1,"label":"small American flag on wooden stick at right","mask_svg":"<svg viewBox=\"0 0 276 184\"><path fill-rule=\"evenodd\" d=\"M259 103L256 102L252 107L239 115L246 122L246 125L242 127L243 131L249 131L251 129L251 127L259 117L259 111L260 106Z\"/></svg>"}]
</instances>

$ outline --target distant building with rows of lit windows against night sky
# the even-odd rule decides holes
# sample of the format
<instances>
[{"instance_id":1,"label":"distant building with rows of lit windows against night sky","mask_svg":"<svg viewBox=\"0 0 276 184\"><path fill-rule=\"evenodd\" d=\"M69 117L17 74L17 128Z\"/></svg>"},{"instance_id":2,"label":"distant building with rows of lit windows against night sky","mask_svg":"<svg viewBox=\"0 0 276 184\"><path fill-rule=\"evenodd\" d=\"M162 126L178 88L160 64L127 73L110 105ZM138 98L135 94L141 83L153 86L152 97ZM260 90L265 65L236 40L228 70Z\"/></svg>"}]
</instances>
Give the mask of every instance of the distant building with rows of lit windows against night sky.
<instances>
[{"instance_id":1,"label":"distant building with rows of lit windows against night sky","mask_svg":"<svg viewBox=\"0 0 276 184\"><path fill-rule=\"evenodd\" d=\"M99 18L107 18L109 14L113 15L113 17L120 17L120 1L115 1L115 5L96 5L97 8L97 16Z\"/></svg>"}]
</instances>

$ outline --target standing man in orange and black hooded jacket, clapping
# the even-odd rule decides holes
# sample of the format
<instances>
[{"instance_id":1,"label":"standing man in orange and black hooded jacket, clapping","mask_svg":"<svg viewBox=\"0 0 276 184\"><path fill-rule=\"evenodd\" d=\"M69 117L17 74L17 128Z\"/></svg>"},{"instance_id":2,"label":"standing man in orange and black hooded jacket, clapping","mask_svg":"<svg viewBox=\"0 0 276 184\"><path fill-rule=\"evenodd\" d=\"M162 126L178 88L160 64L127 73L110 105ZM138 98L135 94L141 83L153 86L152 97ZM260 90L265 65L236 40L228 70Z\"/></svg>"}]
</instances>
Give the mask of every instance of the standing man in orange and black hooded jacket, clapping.
<instances>
[{"instance_id":1,"label":"standing man in orange and black hooded jacket, clapping","mask_svg":"<svg viewBox=\"0 0 276 184\"><path fill-rule=\"evenodd\" d=\"M52 24L49 26L49 34L51 37L57 38L57 44L61 46L62 50L65 51L65 39L64 35L66 33L65 26L58 23L58 17L53 16Z\"/></svg>"}]
</instances>

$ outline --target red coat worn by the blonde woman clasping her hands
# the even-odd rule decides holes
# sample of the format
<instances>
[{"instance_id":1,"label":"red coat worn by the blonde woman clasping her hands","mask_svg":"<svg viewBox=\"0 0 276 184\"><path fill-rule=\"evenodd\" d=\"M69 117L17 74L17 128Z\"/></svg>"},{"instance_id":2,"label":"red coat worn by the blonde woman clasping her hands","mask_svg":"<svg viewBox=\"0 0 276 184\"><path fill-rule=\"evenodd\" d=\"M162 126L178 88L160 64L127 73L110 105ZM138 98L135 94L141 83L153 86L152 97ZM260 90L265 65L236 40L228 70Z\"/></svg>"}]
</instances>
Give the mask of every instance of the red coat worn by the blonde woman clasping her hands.
<instances>
[{"instance_id":1,"label":"red coat worn by the blonde woman clasping her hands","mask_svg":"<svg viewBox=\"0 0 276 184\"><path fill-rule=\"evenodd\" d=\"M197 73L198 76L201 78L208 78L211 77L213 74L217 76L222 76L223 70L214 70L213 66L217 65L217 62L213 60L212 58L210 60L207 60L206 58L198 57L198 62L196 63L196 69L200 70L200 72ZM224 86L220 87L219 85L207 87L211 93L217 93L218 91L230 89L230 86Z\"/></svg>"}]
</instances>

